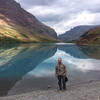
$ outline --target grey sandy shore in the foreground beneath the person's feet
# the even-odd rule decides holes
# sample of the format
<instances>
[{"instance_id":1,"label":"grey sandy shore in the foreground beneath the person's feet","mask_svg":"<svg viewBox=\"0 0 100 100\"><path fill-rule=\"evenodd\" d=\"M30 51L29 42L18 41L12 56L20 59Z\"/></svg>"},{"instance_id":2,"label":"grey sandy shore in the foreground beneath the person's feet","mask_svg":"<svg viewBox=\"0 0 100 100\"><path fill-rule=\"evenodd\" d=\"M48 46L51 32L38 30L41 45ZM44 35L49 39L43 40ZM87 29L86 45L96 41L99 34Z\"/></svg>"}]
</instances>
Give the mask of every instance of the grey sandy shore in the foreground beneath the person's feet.
<instances>
[{"instance_id":1,"label":"grey sandy shore in the foreground beneath the person's feet","mask_svg":"<svg viewBox=\"0 0 100 100\"><path fill-rule=\"evenodd\" d=\"M0 100L100 100L100 81L71 86L66 91L48 89L0 97Z\"/></svg>"}]
</instances>

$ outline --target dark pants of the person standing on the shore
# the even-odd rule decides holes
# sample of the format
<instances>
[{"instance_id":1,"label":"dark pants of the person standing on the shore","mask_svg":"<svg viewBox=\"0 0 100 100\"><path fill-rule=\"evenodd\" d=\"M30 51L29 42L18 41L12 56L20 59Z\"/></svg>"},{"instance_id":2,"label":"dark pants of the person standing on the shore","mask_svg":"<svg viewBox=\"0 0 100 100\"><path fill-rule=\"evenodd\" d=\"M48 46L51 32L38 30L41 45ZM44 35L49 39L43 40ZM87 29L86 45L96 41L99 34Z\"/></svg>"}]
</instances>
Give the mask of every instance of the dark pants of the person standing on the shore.
<instances>
[{"instance_id":1,"label":"dark pants of the person standing on the shore","mask_svg":"<svg viewBox=\"0 0 100 100\"><path fill-rule=\"evenodd\" d=\"M59 89L62 90L66 90L66 82L65 82L65 76L58 76L58 85L59 85Z\"/></svg>"}]
</instances>

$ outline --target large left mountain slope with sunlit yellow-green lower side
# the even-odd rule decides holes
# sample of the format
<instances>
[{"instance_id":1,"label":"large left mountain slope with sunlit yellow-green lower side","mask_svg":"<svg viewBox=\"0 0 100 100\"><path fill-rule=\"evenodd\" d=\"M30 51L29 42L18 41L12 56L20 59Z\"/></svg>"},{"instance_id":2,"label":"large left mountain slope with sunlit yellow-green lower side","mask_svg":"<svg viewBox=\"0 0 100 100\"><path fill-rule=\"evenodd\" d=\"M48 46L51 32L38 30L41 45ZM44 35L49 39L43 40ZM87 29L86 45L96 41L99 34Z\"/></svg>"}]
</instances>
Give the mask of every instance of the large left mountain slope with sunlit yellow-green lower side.
<instances>
[{"instance_id":1,"label":"large left mountain slope with sunlit yellow-green lower side","mask_svg":"<svg viewBox=\"0 0 100 100\"><path fill-rule=\"evenodd\" d=\"M0 0L0 42L58 41L56 32L14 0Z\"/></svg>"}]
</instances>

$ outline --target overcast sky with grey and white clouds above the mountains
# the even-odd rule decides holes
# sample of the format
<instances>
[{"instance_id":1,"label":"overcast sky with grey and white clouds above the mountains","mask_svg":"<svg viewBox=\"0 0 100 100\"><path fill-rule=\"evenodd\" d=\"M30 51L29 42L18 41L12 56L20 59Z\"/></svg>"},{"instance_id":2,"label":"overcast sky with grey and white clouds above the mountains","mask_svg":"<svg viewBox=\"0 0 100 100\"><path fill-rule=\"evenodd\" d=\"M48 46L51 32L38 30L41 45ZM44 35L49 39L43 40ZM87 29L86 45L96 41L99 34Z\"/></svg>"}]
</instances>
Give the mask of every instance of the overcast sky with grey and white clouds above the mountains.
<instances>
[{"instance_id":1,"label":"overcast sky with grey and white clouds above the mountains","mask_svg":"<svg viewBox=\"0 0 100 100\"><path fill-rule=\"evenodd\" d=\"M16 0L58 34L77 25L100 23L100 0Z\"/></svg>"}]
</instances>

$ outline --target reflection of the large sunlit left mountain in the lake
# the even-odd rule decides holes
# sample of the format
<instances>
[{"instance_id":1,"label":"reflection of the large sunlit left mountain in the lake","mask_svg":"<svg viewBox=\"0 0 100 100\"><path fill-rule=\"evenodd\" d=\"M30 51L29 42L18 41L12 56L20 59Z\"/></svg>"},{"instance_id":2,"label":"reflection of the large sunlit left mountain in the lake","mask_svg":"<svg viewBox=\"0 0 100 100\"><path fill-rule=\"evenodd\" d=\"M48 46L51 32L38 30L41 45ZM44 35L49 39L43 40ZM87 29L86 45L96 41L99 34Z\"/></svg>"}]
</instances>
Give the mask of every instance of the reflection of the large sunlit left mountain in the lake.
<instances>
[{"instance_id":1,"label":"reflection of the large sunlit left mountain in the lake","mask_svg":"<svg viewBox=\"0 0 100 100\"><path fill-rule=\"evenodd\" d=\"M18 46L0 50L0 96L7 95L17 81L45 59L53 56L54 46ZM12 56L11 56L12 55Z\"/></svg>"}]
</instances>

